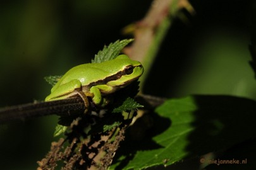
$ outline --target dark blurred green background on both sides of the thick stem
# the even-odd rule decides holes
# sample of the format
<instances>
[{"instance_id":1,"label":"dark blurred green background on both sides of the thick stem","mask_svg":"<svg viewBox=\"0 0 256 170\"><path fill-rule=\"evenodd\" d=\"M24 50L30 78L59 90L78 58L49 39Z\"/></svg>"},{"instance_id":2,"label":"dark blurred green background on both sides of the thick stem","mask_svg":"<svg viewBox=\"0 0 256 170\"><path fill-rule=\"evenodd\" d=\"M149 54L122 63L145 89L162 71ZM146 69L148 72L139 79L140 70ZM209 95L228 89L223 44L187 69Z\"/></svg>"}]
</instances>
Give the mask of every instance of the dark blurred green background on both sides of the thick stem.
<instances>
[{"instance_id":1,"label":"dark blurred green background on both sides of the thick stem","mask_svg":"<svg viewBox=\"0 0 256 170\"><path fill-rule=\"evenodd\" d=\"M150 3L1 2L0 106L44 100L51 89L45 76L61 75L74 65L90 62L103 45L123 39L121 29L142 19ZM255 1L190 3L197 14L187 16L186 21L177 18L144 92L166 97L231 94L256 99L256 82L248 64L248 26ZM57 117L50 116L0 125L1 167L35 169L36 161L49 150L56 122Z\"/></svg>"}]
</instances>

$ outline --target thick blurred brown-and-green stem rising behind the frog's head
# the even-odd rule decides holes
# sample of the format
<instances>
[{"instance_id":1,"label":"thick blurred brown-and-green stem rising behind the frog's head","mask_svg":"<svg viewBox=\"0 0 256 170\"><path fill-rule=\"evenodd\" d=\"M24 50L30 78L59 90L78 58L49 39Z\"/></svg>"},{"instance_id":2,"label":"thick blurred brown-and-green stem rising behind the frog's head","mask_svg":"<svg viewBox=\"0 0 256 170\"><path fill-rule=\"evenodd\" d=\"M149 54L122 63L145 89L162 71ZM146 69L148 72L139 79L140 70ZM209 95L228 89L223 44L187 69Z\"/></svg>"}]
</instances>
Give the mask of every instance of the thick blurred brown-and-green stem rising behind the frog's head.
<instances>
[{"instance_id":1,"label":"thick blurred brown-and-green stem rising behind the frog's head","mask_svg":"<svg viewBox=\"0 0 256 170\"><path fill-rule=\"evenodd\" d=\"M146 16L133 25L135 41L131 47L126 47L124 52L131 59L142 62L144 73L140 77L141 90L145 79L149 76L161 43L173 23L174 17L170 16L178 14L181 8L186 8L193 13L193 8L187 0L155 0Z\"/></svg>"}]
</instances>

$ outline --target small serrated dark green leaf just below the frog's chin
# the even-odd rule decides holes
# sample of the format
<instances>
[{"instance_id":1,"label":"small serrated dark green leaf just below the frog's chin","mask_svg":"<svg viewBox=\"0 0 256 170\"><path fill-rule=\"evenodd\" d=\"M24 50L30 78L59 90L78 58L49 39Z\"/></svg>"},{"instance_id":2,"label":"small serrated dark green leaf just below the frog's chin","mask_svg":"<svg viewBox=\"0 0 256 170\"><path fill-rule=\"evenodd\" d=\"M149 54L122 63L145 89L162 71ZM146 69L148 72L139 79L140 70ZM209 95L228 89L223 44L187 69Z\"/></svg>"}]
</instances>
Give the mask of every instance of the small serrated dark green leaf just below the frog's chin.
<instances>
[{"instance_id":1,"label":"small serrated dark green leaf just below the frog's chin","mask_svg":"<svg viewBox=\"0 0 256 170\"><path fill-rule=\"evenodd\" d=\"M142 108L143 106L137 103L133 98L126 98L123 102L123 105L114 108L112 111L113 113L120 113L122 111L130 111L130 110L136 110L137 108Z\"/></svg>"}]
</instances>

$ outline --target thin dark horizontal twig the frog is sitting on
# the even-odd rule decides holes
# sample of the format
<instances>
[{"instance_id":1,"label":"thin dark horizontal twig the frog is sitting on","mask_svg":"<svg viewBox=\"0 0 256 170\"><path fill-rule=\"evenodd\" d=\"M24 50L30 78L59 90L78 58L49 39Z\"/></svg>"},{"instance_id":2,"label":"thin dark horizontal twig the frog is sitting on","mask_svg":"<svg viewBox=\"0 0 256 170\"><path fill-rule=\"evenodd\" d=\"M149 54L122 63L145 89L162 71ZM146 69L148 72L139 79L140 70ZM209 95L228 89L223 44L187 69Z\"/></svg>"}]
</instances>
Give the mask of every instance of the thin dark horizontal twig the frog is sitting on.
<instances>
[{"instance_id":1,"label":"thin dark horizontal twig the frog is sitting on","mask_svg":"<svg viewBox=\"0 0 256 170\"><path fill-rule=\"evenodd\" d=\"M155 108L164 102L164 98L140 94L135 98L146 110ZM85 105L81 98L68 98L56 101L28 103L9 106L0 110L0 123L11 120L23 120L47 115L68 116L83 113Z\"/></svg>"}]
</instances>

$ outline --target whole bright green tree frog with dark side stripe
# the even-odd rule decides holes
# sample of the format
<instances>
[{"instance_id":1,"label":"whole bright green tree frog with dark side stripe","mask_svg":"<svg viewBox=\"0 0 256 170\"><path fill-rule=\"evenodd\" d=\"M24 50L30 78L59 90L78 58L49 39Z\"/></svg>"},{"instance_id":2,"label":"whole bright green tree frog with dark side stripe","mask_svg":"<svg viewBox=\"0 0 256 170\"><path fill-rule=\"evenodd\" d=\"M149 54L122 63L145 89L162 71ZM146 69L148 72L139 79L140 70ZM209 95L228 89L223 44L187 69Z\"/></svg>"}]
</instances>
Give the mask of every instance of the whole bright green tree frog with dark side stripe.
<instances>
[{"instance_id":1,"label":"whole bright green tree frog with dark side stripe","mask_svg":"<svg viewBox=\"0 0 256 170\"><path fill-rule=\"evenodd\" d=\"M79 95L85 107L89 107L88 98L95 105L102 105L103 97L124 88L137 80L143 73L142 64L131 60L127 55L101 63L88 63L70 69L51 89L46 101L70 98Z\"/></svg>"}]
</instances>

